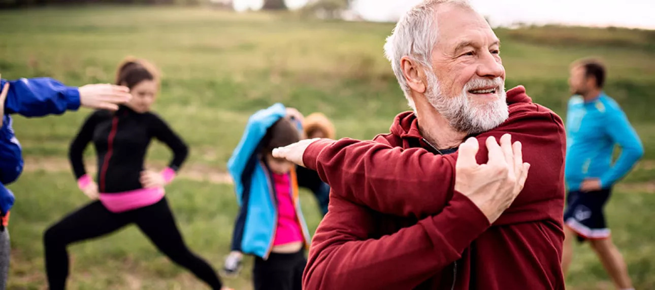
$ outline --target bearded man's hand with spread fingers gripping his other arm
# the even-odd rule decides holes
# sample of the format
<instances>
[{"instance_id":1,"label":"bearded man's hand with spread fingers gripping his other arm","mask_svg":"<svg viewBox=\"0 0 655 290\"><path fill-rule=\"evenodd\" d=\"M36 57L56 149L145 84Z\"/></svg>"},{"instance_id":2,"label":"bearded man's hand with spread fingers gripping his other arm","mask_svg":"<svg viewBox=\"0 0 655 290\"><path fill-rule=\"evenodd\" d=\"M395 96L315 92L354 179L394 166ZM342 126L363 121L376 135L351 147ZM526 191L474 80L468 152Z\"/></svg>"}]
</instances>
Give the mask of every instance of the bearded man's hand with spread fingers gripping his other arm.
<instances>
[{"instance_id":1,"label":"bearded man's hand with spread fingers gripping his other arm","mask_svg":"<svg viewBox=\"0 0 655 290\"><path fill-rule=\"evenodd\" d=\"M530 164L523 163L521 142L512 146L508 134L500 138L500 146L496 138L487 138L487 164L477 164L478 149L476 138L468 138L460 145L455 163L455 190L466 195L487 216L489 223L493 223L523 189Z\"/></svg>"}]
</instances>

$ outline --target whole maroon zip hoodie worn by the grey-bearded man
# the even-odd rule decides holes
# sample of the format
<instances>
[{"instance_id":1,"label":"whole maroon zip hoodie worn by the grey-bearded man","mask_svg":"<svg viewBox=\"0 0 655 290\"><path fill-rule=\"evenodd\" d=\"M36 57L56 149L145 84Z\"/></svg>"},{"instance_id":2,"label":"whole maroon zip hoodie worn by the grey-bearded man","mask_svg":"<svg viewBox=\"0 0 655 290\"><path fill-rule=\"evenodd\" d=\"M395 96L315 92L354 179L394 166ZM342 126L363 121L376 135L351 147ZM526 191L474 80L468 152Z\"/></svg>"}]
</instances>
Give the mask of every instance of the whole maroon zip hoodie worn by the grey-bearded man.
<instances>
[{"instance_id":1,"label":"whole maroon zip hoodie worn by the grey-bearded man","mask_svg":"<svg viewBox=\"0 0 655 290\"><path fill-rule=\"evenodd\" d=\"M561 119L507 92L510 116L477 135L523 143L532 166L523 191L498 220L453 190L457 153L440 155L411 112L373 141L312 143L303 156L331 186L303 289L564 289L561 253L565 132Z\"/></svg>"}]
</instances>

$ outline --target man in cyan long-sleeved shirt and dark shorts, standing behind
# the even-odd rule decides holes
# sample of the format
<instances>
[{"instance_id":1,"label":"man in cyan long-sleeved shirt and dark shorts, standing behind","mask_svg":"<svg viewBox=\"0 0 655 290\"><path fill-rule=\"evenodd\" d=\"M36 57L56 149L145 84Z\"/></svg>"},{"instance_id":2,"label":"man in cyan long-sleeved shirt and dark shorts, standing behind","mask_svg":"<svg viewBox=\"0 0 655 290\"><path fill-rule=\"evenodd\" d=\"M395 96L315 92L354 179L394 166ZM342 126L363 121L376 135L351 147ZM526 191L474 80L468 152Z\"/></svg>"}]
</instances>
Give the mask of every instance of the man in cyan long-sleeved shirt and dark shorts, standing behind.
<instances>
[{"instance_id":1,"label":"man in cyan long-sleeved shirt and dark shorts, standing behind","mask_svg":"<svg viewBox=\"0 0 655 290\"><path fill-rule=\"evenodd\" d=\"M572 259L572 239L589 240L617 289L633 289L627 266L610 238L603 207L612 186L629 172L644 153L635 129L620 106L603 92L605 67L593 59L571 66L569 84L575 95L567 112L565 181L569 187L564 212L563 271ZM614 146L621 154L612 164Z\"/></svg>"}]
</instances>

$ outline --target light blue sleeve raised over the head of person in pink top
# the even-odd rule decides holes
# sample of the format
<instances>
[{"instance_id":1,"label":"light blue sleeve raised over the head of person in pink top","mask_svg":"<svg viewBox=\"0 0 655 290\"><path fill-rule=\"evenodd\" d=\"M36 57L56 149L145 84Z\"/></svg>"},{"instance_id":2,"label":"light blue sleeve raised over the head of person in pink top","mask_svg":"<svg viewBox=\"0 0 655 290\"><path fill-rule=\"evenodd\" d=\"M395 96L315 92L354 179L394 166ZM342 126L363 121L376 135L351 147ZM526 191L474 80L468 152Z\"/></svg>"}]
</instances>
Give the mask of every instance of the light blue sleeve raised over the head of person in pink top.
<instances>
[{"instance_id":1,"label":"light blue sleeve raised over the head of person in pink top","mask_svg":"<svg viewBox=\"0 0 655 290\"><path fill-rule=\"evenodd\" d=\"M248 161L255 153L259 142L266 135L266 131L280 118L286 115L284 105L277 103L264 110L259 110L248 119L248 125L244 135L241 137L239 144L234 148L234 152L227 161L227 170L234 180L234 189L237 197L240 199L243 184L241 184L241 175L248 165Z\"/></svg>"}]
</instances>

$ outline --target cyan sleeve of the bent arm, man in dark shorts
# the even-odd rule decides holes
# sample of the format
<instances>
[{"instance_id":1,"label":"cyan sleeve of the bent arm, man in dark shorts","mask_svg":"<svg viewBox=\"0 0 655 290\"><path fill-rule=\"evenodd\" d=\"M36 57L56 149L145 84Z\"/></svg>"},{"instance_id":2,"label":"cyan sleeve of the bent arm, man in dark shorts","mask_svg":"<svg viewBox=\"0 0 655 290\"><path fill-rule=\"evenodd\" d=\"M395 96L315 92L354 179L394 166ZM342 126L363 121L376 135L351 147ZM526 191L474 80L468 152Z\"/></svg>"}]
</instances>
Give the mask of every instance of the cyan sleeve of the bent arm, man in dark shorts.
<instances>
[{"instance_id":1,"label":"cyan sleeve of the bent arm, man in dark shorts","mask_svg":"<svg viewBox=\"0 0 655 290\"><path fill-rule=\"evenodd\" d=\"M608 187L626 176L644 155L644 147L637 132L627 120L626 114L620 108L608 111L605 128L612 141L621 147L621 154L614 166L601 176L601 185Z\"/></svg>"}]
</instances>

